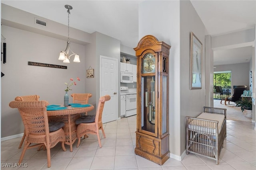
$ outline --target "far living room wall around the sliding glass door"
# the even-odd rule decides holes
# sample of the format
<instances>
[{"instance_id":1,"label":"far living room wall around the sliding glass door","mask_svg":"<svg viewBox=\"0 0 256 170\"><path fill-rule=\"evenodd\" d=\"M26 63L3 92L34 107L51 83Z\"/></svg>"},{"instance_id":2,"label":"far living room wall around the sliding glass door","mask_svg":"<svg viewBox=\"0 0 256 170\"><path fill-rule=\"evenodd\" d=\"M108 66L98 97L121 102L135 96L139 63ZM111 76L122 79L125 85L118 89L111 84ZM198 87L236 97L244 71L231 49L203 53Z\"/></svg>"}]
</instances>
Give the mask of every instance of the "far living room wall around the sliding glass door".
<instances>
[{"instance_id":1,"label":"far living room wall around the sliding glass door","mask_svg":"<svg viewBox=\"0 0 256 170\"><path fill-rule=\"evenodd\" d=\"M250 88L250 63L226 64L214 66L214 72L231 70L231 89L235 85L246 85Z\"/></svg>"}]
</instances>

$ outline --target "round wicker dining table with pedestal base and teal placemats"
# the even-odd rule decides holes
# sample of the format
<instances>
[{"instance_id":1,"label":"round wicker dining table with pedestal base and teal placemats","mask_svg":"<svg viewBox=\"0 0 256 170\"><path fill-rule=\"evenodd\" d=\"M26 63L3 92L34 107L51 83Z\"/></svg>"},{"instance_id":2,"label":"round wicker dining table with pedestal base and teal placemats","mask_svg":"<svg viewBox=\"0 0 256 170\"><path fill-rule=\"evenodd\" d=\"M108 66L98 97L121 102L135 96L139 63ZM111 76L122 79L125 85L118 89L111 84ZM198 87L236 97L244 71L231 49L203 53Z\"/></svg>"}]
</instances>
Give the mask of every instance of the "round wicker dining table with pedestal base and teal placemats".
<instances>
[{"instance_id":1,"label":"round wicker dining table with pedestal base and teal placemats","mask_svg":"<svg viewBox=\"0 0 256 170\"><path fill-rule=\"evenodd\" d=\"M70 152L73 151L72 145L77 139L77 135L76 135L77 125L75 123L76 119L78 119L81 116L80 113L86 113L93 109L94 109L94 106L90 105L88 107L67 106L66 109L62 109L62 110L47 111L48 121L62 121L65 123L65 126L63 127L63 130L66 135L65 144L70 145Z\"/></svg>"}]
</instances>

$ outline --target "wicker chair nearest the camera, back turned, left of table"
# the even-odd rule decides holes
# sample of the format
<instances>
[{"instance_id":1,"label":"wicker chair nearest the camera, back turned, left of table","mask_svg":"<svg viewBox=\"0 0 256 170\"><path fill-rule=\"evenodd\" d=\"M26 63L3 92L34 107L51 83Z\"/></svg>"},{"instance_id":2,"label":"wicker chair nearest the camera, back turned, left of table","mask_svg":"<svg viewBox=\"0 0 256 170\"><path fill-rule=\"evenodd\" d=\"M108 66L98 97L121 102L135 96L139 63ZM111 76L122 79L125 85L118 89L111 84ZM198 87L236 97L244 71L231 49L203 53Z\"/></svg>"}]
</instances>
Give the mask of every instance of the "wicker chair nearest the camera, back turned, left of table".
<instances>
[{"instance_id":1,"label":"wicker chair nearest the camera, back turned, left of table","mask_svg":"<svg viewBox=\"0 0 256 170\"><path fill-rule=\"evenodd\" d=\"M41 148L42 146L45 147L47 152L48 168L51 167L51 148L53 148L58 142L62 142L62 149L66 151L64 146L64 141L66 141L65 133L62 129L65 123L48 123L48 115L46 111L47 105L48 102L45 100L29 102L12 101L9 104L11 108L18 108L26 132L24 148L20 155L19 164L22 162L27 149L35 147Z\"/></svg>"}]
</instances>

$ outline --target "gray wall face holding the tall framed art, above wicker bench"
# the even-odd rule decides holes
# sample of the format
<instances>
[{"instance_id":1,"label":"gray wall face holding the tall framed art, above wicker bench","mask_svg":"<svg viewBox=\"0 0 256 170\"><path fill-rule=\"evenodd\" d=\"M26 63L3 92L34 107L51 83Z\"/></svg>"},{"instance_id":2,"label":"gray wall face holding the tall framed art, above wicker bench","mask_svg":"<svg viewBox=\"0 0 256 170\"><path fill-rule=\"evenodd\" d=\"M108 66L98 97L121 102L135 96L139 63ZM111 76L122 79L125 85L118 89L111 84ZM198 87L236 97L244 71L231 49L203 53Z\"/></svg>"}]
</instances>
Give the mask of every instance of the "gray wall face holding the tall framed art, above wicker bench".
<instances>
[{"instance_id":1,"label":"gray wall face holding the tall framed art, above wicker bench","mask_svg":"<svg viewBox=\"0 0 256 170\"><path fill-rule=\"evenodd\" d=\"M180 57L181 104L180 104L180 154L186 149L186 116L196 117L205 106L205 57L204 24L190 1L180 1ZM190 90L190 31L203 44L202 50L202 89ZM210 68L208 68L210 69Z\"/></svg>"}]
</instances>

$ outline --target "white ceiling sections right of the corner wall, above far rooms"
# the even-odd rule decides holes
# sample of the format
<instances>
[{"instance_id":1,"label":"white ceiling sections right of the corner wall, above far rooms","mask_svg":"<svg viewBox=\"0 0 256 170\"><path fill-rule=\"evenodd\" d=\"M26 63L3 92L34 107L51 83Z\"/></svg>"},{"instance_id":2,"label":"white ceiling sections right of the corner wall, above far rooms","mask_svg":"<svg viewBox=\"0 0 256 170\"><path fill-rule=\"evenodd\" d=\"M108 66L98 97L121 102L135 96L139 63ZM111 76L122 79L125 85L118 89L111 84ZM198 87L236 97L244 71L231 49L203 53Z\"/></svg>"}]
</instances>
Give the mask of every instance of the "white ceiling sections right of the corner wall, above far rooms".
<instances>
[{"instance_id":1,"label":"white ceiling sections right of the corner wall, above far rooms","mask_svg":"<svg viewBox=\"0 0 256 170\"><path fill-rule=\"evenodd\" d=\"M256 0L192 0L205 25L206 35L212 37L254 28ZM248 63L252 46L214 51L214 65Z\"/></svg>"}]
</instances>

